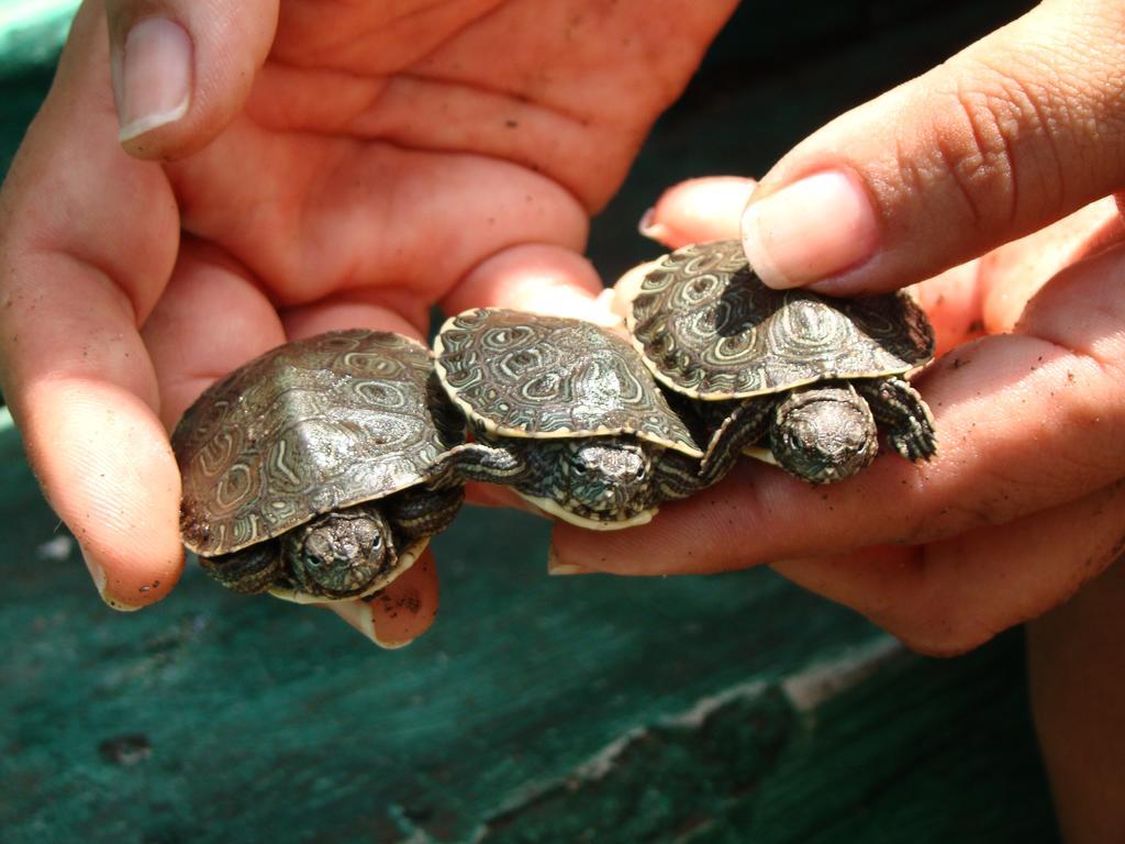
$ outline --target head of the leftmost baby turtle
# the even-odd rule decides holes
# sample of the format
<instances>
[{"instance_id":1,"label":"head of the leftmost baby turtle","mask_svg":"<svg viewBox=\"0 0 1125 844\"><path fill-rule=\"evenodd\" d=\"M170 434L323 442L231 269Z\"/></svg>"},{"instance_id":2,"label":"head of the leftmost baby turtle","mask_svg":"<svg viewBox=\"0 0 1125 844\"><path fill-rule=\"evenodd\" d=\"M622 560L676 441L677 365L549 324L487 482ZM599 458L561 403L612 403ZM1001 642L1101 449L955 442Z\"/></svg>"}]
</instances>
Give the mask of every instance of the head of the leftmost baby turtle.
<instances>
[{"instance_id":1,"label":"head of the leftmost baby turtle","mask_svg":"<svg viewBox=\"0 0 1125 844\"><path fill-rule=\"evenodd\" d=\"M286 536L284 554L297 587L330 600L362 595L396 557L390 524L372 506L302 524Z\"/></svg>"}]
</instances>

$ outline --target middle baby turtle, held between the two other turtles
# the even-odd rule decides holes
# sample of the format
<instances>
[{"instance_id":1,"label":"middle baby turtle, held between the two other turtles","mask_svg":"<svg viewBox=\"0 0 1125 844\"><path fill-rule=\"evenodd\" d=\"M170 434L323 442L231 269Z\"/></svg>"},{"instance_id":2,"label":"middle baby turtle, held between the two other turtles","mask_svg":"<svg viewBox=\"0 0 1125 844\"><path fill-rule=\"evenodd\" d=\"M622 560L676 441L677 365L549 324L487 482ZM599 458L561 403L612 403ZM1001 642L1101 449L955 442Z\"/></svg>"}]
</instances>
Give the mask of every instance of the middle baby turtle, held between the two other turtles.
<instances>
[{"instance_id":1,"label":"middle baby turtle, held between the two other turtles","mask_svg":"<svg viewBox=\"0 0 1125 844\"><path fill-rule=\"evenodd\" d=\"M702 451L629 341L579 320L466 311L442 326L436 369L474 441L474 481L514 488L584 528L647 522L699 488Z\"/></svg>"}]
</instances>

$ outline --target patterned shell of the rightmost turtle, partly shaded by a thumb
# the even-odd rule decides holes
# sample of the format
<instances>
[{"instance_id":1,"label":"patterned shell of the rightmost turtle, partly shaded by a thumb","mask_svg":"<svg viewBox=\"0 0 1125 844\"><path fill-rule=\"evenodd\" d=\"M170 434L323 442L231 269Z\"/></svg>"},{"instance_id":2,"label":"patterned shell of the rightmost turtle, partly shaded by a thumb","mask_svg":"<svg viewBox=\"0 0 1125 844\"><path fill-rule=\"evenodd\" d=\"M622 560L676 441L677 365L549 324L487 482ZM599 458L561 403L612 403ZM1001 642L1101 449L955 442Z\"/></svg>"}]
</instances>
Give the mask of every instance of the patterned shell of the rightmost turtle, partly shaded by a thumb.
<instances>
[{"instance_id":1,"label":"patterned shell of the rightmost turtle, partly shaded by a thumb","mask_svg":"<svg viewBox=\"0 0 1125 844\"><path fill-rule=\"evenodd\" d=\"M909 294L774 290L738 241L665 255L641 282L629 330L660 381L710 401L902 375L934 356L934 330Z\"/></svg>"}]
</instances>

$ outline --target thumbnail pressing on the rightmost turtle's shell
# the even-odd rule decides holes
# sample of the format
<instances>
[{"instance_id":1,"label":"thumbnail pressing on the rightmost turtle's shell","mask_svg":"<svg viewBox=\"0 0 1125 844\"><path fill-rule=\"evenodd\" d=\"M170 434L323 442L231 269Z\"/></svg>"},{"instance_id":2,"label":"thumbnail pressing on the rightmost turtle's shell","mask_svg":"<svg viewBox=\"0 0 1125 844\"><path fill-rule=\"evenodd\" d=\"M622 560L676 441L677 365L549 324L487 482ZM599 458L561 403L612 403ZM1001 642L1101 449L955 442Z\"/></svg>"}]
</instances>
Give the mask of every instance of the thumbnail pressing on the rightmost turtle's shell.
<instances>
[{"instance_id":1,"label":"thumbnail pressing on the rightmost turtle's shell","mask_svg":"<svg viewBox=\"0 0 1125 844\"><path fill-rule=\"evenodd\" d=\"M855 177L809 176L742 214L742 248L765 284L785 288L836 275L867 259L879 240L871 199Z\"/></svg>"}]
</instances>

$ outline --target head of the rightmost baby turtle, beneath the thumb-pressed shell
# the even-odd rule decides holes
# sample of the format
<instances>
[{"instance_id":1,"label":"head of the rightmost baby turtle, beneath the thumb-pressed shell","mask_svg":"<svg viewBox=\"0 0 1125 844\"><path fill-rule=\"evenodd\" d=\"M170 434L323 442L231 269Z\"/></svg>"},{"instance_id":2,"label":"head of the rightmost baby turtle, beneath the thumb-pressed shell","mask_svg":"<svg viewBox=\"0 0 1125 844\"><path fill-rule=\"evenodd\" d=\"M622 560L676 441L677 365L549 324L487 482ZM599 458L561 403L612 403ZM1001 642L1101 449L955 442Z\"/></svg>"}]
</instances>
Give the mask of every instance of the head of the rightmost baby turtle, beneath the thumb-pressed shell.
<instances>
[{"instance_id":1,"label":"head of the rightmost baby turtle, beneath the thumb-pressed shell","mask_svg":"<svg viewBox=\"0 0 1125 844\"><path fill-rule=\"evenodd\" d=\"M782 468L813 484L849 477L879 451L871 408L843 387L793 393L777 406L770 440Z\"/></svg>"}]
</instances>

